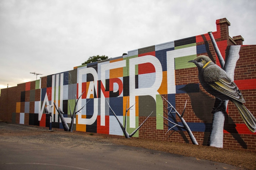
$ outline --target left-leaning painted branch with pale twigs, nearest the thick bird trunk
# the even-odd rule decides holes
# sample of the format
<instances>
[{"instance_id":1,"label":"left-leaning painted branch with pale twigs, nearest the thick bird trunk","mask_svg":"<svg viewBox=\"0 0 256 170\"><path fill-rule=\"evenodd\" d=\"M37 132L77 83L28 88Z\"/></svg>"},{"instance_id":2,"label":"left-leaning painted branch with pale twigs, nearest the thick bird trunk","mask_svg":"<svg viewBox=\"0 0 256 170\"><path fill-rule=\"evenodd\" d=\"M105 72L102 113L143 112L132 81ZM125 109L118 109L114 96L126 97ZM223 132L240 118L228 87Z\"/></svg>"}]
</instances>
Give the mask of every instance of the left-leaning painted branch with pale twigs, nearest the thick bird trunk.
<instances>
[{"instance_id":1,"label":"left-leaning painted branch with pale twigs, nearest the thick bird trunk","mask_svg":"<svg viewBox=\"0 0 256 170\"><path fill-rule=\"evenodd\" d=\"M163 96L162 96L162 97L163 97ZM163 98L164 98L164 97L163 97ZM175 113L175 114L177 114L177 116L181 119L181 123L183 124L183 126L181 126L181 125L179 125L179 124L177 124L177 123L175 123L175 122L170 121L169 119L165 118L164 116L160 115L160 116L162 116L163 118L165 118L168 122L170 122L171 124L174 125L173 127L170 127L167 132L169 132L169 131L170 131L171 129L173 129L174 127L181 127L181 128L185 129L185 130L188 132L188 135L189 135L189 137L190 137L192 143L193 143L194 145L198 145L195 136L193 135L192 131L190 130L189 126L187 125L187 122L186 122L186 121L184 120L184 118L183 118L183 115L184 115L184 112L185 112L185 109L186 109L186 105L187 105L187 101L186 101L186 103L185 103L183 112L182 112L182 114L180 115L179 112L173 107L173 105L172 105L166 98L164 98L164 99L165 99L165 101L167 101L167 103L170 105L169 107L167 107L167 109L168 109L168 115L169 115L170 113ZM169 110L169 109L170 109L170 110ZM166 132L166 133L167 133L167 132ZM165 134L166 134L166 133L165 133Z\"/></svg>"}]
</instances>

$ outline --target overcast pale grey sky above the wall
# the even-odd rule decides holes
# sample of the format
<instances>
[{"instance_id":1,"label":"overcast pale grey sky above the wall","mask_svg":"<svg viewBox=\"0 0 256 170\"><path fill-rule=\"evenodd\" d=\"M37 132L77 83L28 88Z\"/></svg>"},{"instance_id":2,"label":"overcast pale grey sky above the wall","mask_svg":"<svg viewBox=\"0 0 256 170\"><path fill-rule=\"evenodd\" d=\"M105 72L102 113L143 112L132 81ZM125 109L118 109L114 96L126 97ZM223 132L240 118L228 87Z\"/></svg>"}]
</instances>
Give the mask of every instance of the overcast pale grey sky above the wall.
<instances>
[{"instance_id":1,"label":"overcast pale grey sky above the wall","mask_svg":"<svg viewBox=\"0 0 256 170\"><path fill-rule=\"evenodd\" d=\"M0 89L123 53L216 31L256 44L254 0L0 0Z\"/></svg>"}]
</instances>

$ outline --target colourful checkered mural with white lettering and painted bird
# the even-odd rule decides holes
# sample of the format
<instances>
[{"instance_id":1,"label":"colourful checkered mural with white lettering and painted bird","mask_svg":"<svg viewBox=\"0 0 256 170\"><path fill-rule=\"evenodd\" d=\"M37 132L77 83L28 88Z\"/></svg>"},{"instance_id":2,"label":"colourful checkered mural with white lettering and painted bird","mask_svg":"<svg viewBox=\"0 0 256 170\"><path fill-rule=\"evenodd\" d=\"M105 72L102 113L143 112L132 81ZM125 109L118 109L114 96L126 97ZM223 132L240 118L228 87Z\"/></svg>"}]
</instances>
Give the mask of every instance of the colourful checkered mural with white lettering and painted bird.
<instances>
[{"instance_id":1,"label":"colourful checkered mural with white lettering and painted bird","mask_svg":"<svg viewBox=\"0 0 256 170\"><path fill-rule=\"evenodd\" d=\"M196 137L201 135L199 143L215 147L223 147L225 132L246 148L240 135L255 132L256 121L233 83L241 46L228 46L227 40L215 42L214 37L220 39L220 31L128 51L124 56L27 82L16 103L16 115L20 124L48 127L51 119L53 128L127 138L155 135L166 139L177 132L185 142L190 142L189 137L198 144ZM216 61L208 41L214 46ZM196 67L199 76L195 77ZM203 75L208 69L212 76ZM210 80L219 72L226 78L218 79L214 86ZM198 77L216 99L201 90ZM220 95L222 91L225 97ZM250 130L226 113L226 100L238 106ZM51 105L55 107L52 117L44 109ZM243 131L238 132L236 126Z\"/></svg>"}]
</instances>

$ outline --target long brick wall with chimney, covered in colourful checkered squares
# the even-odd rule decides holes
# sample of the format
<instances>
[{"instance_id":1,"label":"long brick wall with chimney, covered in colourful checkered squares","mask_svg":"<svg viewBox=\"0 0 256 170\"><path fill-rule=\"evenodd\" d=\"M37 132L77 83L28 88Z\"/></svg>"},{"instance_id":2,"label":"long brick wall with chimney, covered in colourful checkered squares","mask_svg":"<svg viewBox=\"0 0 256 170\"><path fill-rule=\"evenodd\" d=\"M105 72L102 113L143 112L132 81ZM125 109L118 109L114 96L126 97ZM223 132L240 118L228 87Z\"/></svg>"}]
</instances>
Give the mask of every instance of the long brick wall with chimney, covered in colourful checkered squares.
<instances>
[{"instance_id":1,"label":"long brick wall with chimney, covered in colourful checkered squares","mask_svg":"<svg viewBox=\"0 0 256 170\"><path fill-rule=\"evenodd\" d=\"M216 20L216 25L217 31L212 35L223 58L232 52L239 58L234 82L244 96L245 106L256 116L256 45L242 45L241 36L230 38L230 23L225 18ZM75 117L76 131L124 136L117 120L124 125L126 108L134 105L127 112L129 134L153 112L133 137L192 144L188 131L179 127L183 123L178 114L169 113L167 108L171 104L182 114L187 101L182 119L199 145L256 152L256 135L246 127L232 102L223 113L223 123L218 125L221 130L213 131L211 112L215 98L201 86L195 64L188 63L200 55L220 66L208 33L128 51L125 56L1 89L0 119L49 127L50 117L44 109L48 105L53 113L52 127L63 128L55 107L51 110L49 105L54 102L60 107L69 123L70 109L73 111L82 94L77 109L85 107ZM210 133L216 133L220 139Z\"/></svg>"}]
</instances>

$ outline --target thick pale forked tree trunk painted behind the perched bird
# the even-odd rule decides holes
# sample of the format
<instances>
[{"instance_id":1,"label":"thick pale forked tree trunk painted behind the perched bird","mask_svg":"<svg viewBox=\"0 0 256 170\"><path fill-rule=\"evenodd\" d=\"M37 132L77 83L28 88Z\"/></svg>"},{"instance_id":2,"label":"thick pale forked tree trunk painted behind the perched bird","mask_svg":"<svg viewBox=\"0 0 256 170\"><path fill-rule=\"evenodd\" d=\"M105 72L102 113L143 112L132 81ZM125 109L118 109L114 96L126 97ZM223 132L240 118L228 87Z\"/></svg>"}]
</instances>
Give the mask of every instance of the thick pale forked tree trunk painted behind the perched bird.
<instances>
[{"instance_id":1,"label":"thick pale forked tree trunk painted behind the perched bird","mask_svg":"<svg viewBox=\"0 0 256 170\"><path fill-rule=\"evenodd\" d=\"M209 32L208 34L211 38L212 43L215 44L214 50L217 53L217 57L220 61L222 69L224 69L229 75L229 77L231 77L234 80L236 62L239 59L239 51L241 46L240 45L230 46L228 54L226 56L226 62L225 62L222 55L219 52L219 48L217 46L217 43L215 42L214 36L212 35L211 32ZM214 146L217 148L223 147L223 127L224 127L225 113L227 110L228 100L221 101L218 98L216 98L214 103L214 108L217 108L221 102L222 104L219 108L222 108L222 109L212 111L212 114L213 114L212 129L208 139L208 145Z\"/></svg>"}]
</instances>

